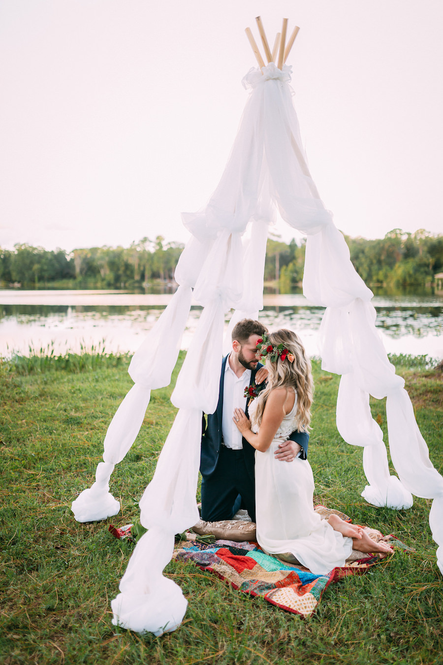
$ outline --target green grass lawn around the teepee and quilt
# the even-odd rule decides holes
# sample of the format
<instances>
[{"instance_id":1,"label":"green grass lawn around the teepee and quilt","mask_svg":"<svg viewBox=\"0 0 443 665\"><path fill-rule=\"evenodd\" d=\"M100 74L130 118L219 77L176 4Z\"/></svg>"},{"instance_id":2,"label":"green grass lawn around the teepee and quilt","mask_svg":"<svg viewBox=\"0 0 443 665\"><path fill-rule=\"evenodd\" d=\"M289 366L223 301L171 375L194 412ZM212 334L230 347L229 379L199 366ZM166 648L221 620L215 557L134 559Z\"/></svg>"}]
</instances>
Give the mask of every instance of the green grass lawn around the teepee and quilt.
<instances>
[{"instance_id":1,"label":"green grass lawn around the teepee and quilt","mask_svg":"<svg viewBox=\"0 0 443 665\"><path fill-rule=\"evenodd\" d=\"M389 563L331 585L306 620L193 565L171 562L166 574L189 599L181 627L155 638L112 626L110 600L133 545L114 539L108 525L138 519L133 499L153 475L175 408L171 387L153 392L143 428L112 475L121 513L77 523L70 503L92 483L106 428L132 386L126 356L90 355L65 364L56 358L0 364L2 664L443 662L443 580L428 526L430 501L415 499L407 511L365 503L362 450L345 444L334 424L339 378L317 362L310 442L316 501L394 533L415 551L397 551ZM441 374L405 356L393 361L441 472ZM373 400L373 414L386 430L383 402Z\"/></svg>"}]
</instances>

